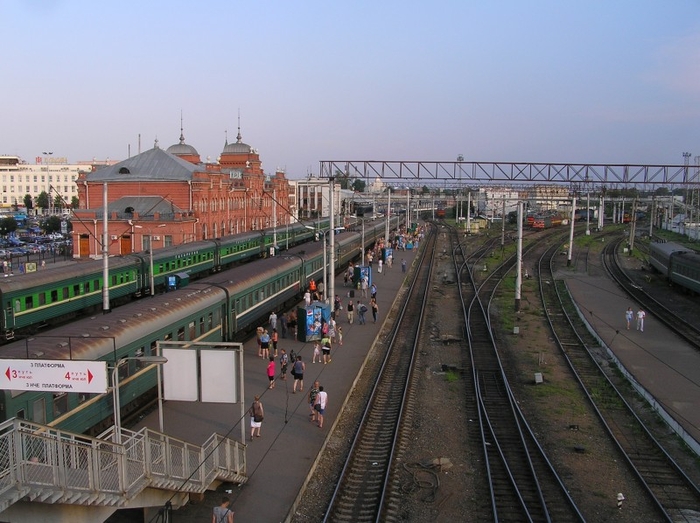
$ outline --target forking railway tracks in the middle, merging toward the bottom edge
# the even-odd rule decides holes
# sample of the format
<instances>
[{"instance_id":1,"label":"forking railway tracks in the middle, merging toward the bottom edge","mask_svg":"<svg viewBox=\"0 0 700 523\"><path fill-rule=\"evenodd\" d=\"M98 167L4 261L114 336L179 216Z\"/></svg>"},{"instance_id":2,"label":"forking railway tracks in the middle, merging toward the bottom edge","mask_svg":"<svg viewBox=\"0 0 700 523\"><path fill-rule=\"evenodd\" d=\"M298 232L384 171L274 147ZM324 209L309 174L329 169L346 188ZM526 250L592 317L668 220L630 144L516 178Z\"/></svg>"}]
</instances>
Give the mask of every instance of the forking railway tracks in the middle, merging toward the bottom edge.
<instances>
[{"instance_id":1,"label":"forking railway tracks in the middle, merging toward the bottom edge","mask_svg":"<svg viewBox=\"0 0 700 523\"><path fill-rule=\"evenodd\" d=\"M548 241L532 242L524 251L543 249ZM480 256L486 251L484 248L468 259L458 246L454 254L460 280L466 269L471 282L471 289L462 293L462 304L489 482L490 517L495 521L583 521L517 406L493 337L489 305L516 255L504 259L479 284L471 267L480 265ZM464 283L460 281L460 289L464 290Z\"/></svg>"}]
</instances>

